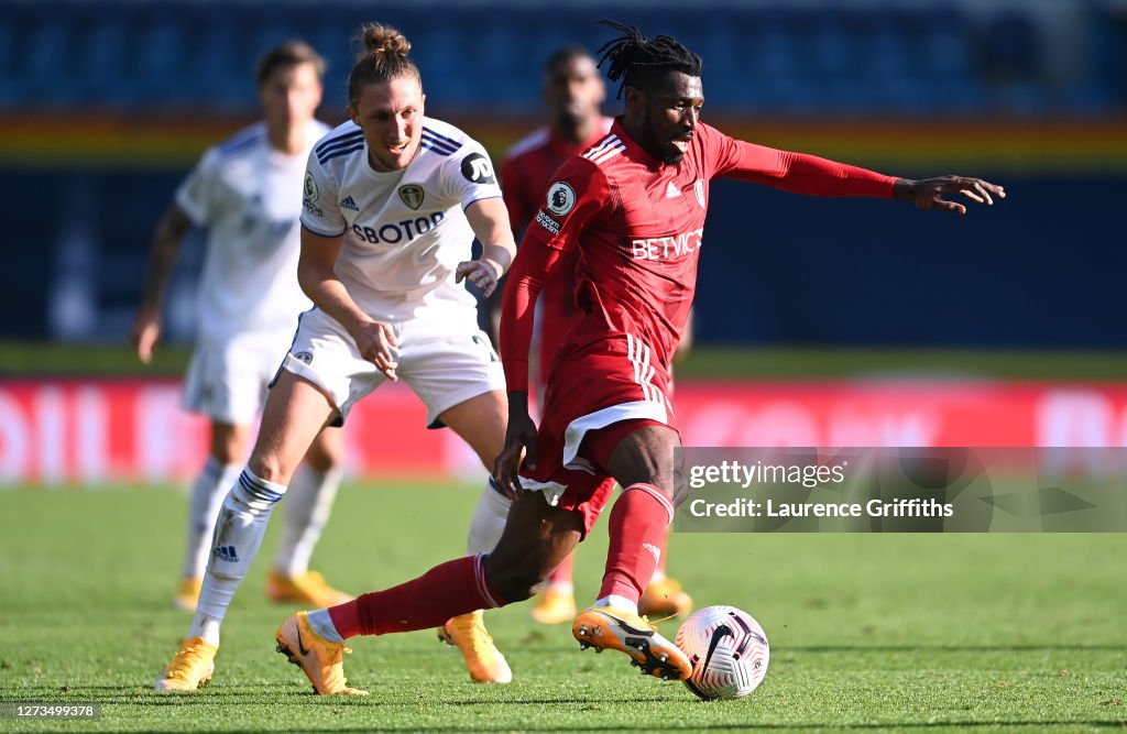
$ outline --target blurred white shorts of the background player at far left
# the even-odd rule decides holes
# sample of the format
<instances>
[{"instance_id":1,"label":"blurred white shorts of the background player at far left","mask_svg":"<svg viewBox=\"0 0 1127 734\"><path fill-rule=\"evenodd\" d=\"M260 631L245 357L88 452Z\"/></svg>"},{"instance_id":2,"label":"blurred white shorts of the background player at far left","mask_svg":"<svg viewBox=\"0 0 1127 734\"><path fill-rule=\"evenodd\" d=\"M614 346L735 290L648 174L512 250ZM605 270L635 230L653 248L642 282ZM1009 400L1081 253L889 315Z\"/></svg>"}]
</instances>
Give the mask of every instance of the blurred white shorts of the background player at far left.
<instances>
[{"instance_id":1,"label":"blurred white shorts of the background player at far left","mask_svg":"<svg viewBox=\"0 0 1127 734\"><path fill-rule=\"evenodd\" d=\"M184 407L214 423L251 425L292 339L286 330L198 343L184 375Z\"/></svg>"}]
</instances>

